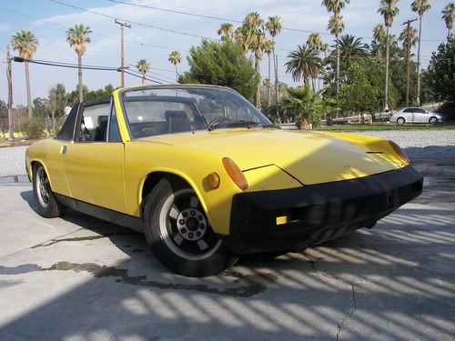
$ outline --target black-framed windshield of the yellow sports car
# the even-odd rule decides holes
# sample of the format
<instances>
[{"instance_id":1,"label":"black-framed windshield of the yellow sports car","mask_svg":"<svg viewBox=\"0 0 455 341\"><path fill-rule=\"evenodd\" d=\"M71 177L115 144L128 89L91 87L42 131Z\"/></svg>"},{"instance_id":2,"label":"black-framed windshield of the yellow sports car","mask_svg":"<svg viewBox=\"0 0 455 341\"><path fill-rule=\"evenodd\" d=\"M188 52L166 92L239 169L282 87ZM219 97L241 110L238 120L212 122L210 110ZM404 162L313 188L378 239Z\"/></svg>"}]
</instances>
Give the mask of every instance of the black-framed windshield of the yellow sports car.
<instances>
[{"instance_id":1,"label":"black-framed windshield of the yellow sports car","mask_svg":"<svg viewBox=\"0 0 455 341\"><path fill-rule=\"evenodd\" d=\"M121 97L133 138L217 128L273 126L248 100L227 88L137 88L122 92Z\"/></svg>"}]
</instances>

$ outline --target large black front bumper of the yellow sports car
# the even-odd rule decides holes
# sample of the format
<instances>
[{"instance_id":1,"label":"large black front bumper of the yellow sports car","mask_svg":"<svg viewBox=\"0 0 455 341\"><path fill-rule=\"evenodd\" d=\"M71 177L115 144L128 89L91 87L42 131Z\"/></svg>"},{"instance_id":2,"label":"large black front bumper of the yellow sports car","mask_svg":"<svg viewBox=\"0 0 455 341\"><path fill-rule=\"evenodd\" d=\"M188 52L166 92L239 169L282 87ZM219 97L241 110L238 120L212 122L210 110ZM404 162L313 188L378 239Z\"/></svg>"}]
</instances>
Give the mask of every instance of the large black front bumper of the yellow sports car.
<instances>
[{"instance_id":1,"label":"large black front bumper of the yellow sports car","mask_svg":"<svg viewBox=\"0 0 455 341\"><path fill-rule=\"evenodd\" d=\"M240 193L232 199L225 245L236 254L299 251L376 221L420 196L423 178L410 165L333 183ZM288 223L277 225L278 216Z\"/></svg>"}]
</instances>

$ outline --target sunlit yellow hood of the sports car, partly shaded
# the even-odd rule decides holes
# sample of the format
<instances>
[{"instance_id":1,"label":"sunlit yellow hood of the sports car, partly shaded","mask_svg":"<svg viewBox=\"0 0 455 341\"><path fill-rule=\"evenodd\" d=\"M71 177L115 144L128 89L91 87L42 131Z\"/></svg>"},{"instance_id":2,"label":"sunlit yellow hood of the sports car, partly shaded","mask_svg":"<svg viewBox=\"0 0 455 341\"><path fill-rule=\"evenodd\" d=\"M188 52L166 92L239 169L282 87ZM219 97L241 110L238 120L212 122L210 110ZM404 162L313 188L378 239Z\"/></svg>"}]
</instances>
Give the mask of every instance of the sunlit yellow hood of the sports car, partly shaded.
<instances>
[{"instance_id":1,"label":"sunlit yellow hood of the sports car, partly shaded","mask_svg":"<svg viewBox=\"0 0 455 341\"><path fill-rule=\"evenodd\" d=\"M227 156L244 171L277 165L304 185L346 180L399 168L381 153L312 132L279 129L217 129L139 140ZM197 163L195 161L195 166Z\"/></svg>"}]
</instances>

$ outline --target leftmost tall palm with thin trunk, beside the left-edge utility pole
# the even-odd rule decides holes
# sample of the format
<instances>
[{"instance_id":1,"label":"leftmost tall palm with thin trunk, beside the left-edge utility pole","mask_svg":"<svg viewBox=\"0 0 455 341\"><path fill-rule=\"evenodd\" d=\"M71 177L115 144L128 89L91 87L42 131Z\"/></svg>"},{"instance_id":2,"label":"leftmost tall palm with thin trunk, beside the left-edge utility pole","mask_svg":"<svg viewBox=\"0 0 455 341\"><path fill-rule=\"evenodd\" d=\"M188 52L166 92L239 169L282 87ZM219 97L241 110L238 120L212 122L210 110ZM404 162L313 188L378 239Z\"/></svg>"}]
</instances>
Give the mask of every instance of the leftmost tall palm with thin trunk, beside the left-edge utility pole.
<instances>
[{"instance_id":1,"label":"leftmost tall palm with thin trunk, beside the left-edge utility pole","mask_svg":"<svg viewBox=\"0 0 455 341\"><path fill-rule=\"evenodd\" d=\"M25 83L27 92L27 111L28 118L32 118L32 95L30 94L30 74L28 72L28 61L32 59L33 54L38 47L38 40L30 31L20 30L11 36L11 45L13 49L19 52L19 56L24 58L25 65Z\"/></svg>"}]
</instances>

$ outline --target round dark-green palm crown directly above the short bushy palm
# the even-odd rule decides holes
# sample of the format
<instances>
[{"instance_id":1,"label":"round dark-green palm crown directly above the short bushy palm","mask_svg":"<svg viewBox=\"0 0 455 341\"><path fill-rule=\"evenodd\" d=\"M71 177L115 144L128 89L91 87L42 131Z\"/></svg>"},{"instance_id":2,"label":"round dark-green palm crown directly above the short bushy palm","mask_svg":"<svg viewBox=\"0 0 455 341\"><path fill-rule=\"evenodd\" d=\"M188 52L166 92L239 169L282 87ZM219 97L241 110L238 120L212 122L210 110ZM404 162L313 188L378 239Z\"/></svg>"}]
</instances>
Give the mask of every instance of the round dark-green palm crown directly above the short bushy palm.
<instances>
[{"instance_id":1,"label":"round dark-green palm crown directly above the short bushy palm","mask_svg":"<svg viewBox=\"0 0 455 341\"><path fill-rule=\"evenodd\" d=\"M285 64L286 72L291 73L294 82L303 78L303 84L309 85L309 78L318 77L322 69L322 61L318 50L314 50L308 45L297 46L297 50L290 52L288 58L290 60Z\"/></svg>"}]
</instances>

